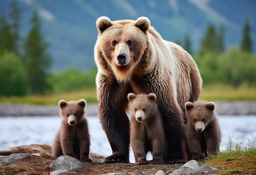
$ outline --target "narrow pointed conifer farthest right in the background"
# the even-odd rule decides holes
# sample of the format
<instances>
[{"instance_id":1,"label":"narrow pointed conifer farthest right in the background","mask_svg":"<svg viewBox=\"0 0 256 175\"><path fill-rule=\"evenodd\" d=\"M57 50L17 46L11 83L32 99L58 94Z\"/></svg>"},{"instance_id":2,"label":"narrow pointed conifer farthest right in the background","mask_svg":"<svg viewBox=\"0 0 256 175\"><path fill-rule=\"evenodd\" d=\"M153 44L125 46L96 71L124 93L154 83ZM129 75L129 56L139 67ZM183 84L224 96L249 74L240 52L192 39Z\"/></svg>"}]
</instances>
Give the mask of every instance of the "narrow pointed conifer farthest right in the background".
<instances>
[{"instance_id":1,"label":"narrow pointed conifer farthest right in the background","mask_svg":"<svg viewBox=\"0 0 256 175\"><path fill-rule=\"evenodd\" d=\"M241 43L241 50L251 53L252 52L252 38L250 35L251 26L249 20L245 20L245 24L243 26L243 36Z\"/></svg>"}]
</instances>

